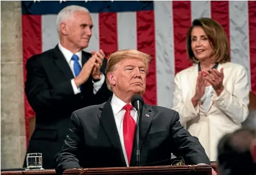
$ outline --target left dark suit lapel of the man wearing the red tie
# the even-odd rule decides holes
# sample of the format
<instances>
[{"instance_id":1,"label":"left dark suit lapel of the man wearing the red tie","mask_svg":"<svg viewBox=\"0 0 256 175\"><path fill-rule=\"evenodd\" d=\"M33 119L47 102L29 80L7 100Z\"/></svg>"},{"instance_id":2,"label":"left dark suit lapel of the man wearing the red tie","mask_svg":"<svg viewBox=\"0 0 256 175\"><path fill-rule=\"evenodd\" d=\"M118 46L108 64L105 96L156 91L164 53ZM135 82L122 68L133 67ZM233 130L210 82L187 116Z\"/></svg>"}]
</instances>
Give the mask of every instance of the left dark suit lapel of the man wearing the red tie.
<instances>
[{"instance_id":1,"label":"left dark suit lapel of the man wearing the red tie","mask_svg":"<svg viewBox=\"0 0 256 175\"><path fill-rule=\"evenodd\" d=\"M117 131L116 121L114 120L113 110L110 105L110 100L111 98L104 104L102 108L100 108L100 112L97 114L97 116L99 117L99 120L104 130L106 131L107 136L109 137L109 140L113 145L113 147L122 153L121 154L122 156L120 159L122 163L126 165L125 159L123 156L124 154L122 152L120 137Z\"/></svg>"}]
</instances>

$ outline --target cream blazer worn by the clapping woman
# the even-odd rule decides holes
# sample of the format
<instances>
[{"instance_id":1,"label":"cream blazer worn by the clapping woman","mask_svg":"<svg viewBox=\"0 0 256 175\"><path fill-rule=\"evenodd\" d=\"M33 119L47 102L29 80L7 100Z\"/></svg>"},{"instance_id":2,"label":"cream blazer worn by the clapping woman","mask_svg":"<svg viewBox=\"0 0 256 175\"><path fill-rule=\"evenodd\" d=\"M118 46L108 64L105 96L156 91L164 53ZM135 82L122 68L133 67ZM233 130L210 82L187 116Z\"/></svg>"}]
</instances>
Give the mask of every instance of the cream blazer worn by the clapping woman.
<instances>
[{"instance_id":1,"label":"cream blazer worn by the clapping woman","mask_svg":"<svg viewBox=\"0 0 256 175\"><path fill-rule=\"evenodd\" d=\"M190 134L198 137L210 161L217 161L219 139L239 129L248 116L250 87L246 69L232 62L219 64L218 70L221 68L225 88L219 96L212 92L208 111L201 105L194 108L191 102L196 92L198 64L177 73L174 81L172 109L179 112L181 124Z\"/></svg>"}]
</instances>

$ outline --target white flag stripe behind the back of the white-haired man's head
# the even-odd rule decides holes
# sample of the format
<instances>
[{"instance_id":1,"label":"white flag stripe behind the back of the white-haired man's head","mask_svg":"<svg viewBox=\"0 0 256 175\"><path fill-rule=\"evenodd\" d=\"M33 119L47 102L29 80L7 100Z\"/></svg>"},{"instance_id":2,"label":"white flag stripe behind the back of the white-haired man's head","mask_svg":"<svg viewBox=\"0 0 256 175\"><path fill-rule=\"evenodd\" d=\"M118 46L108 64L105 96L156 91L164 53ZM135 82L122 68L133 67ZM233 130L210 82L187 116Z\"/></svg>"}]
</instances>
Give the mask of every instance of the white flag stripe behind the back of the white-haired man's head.
<instances>
[{"instance_id":1,"label":"white flag stripe behind the back of the white-haired man's head","mask_svg":"<svg viewBox=\"0 0 256 175\"><path fill-rule=\"evenodd\" d=\"M59 42L56 14L42 15L42 51L53 49Z\"/></svg>"}]
</instances>

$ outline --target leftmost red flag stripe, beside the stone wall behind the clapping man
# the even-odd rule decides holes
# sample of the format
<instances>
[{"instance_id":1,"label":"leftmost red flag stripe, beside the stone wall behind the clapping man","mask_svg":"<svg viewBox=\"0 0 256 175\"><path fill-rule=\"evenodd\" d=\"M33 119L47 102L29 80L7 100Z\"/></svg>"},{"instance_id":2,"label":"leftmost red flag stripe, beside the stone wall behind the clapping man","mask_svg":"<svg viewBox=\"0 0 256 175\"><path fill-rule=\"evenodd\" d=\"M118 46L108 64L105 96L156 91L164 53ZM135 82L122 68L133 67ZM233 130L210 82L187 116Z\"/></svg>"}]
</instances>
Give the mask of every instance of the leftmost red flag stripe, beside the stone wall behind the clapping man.
<instances>
[{"instance_id":1,"label":"leftmost red flag stripe, beside the stone wall behind the clapping man","mask_svg":"<svg viewBox=\"0 0 256 175\"><path fill-rule=\"evenodd\" d=\"M22 16L22 39L23 39L23 73L26 81L27 59L35 54L42 53L42 20L41 15ZM26 140L28 144L28 118L35 116L35 113L24 94Z\"/></svg>"}]
</instances>

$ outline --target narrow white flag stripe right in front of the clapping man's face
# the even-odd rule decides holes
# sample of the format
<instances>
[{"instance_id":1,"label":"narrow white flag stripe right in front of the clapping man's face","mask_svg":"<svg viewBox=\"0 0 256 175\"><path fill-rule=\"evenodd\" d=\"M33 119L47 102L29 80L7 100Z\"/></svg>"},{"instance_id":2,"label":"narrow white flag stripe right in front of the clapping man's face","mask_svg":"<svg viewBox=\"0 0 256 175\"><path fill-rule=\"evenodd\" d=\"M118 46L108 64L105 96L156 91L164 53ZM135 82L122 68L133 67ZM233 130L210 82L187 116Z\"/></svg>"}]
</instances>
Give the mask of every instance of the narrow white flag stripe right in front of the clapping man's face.
<instances>
[{"instance_id":1,"label":"narrow white flag stripe right in front of the clapping man's face","mask_svg":"<svg viewBox=\"0 0 256 175\"><path fill-rule=\"evenodd\" d=\"M100 43L99 43L99 13L91 13L92 17L92 36L89 42L89 46L84 49L88 53L91 51L99 51ZM103 50L104 51L104 50Z\"/></svg>"}]
</instances>

